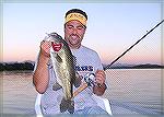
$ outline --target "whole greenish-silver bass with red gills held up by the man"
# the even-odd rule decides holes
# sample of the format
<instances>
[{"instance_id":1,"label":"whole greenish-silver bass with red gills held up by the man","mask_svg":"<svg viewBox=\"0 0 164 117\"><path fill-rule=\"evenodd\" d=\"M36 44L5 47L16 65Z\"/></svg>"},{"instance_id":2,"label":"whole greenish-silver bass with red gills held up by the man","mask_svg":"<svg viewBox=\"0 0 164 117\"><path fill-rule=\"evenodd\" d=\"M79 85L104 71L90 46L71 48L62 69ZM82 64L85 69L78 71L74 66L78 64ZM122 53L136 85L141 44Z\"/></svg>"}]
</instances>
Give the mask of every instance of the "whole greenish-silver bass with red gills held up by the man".
<instances>
[{"instance_id":1,"label":"whole greenish-silver bass with red gills held up by the man","mask_svg":"<svg viewBox=\"0 0 164 117\"><path fill-rule=\"evenodd\" d=\"M68 110L74 113L73 84L78 87L73 55L65 39L57 33L48 34L51 42L50 58L57 77L57 83L54 84L54 90L63 89L63 98L60 104L60 112Z\"/></svg>"}]
</instances>

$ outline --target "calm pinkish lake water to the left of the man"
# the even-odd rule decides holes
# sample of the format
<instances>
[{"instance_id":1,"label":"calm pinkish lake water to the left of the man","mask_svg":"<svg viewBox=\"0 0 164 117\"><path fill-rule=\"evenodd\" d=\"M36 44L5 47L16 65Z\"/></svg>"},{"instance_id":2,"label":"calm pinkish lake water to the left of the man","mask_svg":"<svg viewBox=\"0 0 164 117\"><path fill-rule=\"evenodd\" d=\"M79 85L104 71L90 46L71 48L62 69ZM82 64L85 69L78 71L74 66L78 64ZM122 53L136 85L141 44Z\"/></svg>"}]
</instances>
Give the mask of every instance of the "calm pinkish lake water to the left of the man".
<instances>
[{"instance_id":1,"label":"calm pinkish lake water to the left of the man","mask_svg":"<svg viewBox=\"0 0 164 117\"><path fill-rule=\"evenodd\" d=\"M37 93L33 86L31 71L3 72L2 82L3 114L35 114Z\"/></svg>"}]
</instances>

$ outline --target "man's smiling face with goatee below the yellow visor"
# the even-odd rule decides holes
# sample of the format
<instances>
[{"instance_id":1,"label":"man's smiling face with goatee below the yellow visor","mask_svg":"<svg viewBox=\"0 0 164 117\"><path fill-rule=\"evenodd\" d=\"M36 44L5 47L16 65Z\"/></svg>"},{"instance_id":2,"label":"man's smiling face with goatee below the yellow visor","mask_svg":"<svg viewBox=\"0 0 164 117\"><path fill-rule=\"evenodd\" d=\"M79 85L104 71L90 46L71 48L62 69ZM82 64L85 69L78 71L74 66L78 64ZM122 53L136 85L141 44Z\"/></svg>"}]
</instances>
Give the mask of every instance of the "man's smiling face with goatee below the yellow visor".
<instances>
[{"instance_id":1,"label":"man's smiling face with goatee below the yellow visor","mask_svg":"<svg viewBox=\"0 0 164 117\"><path fill-rule=\"evenodd\" d=\"M69 21L65 26L65 38L70 48L75 49L81 46L85 33L85 26L79 21Z\"/></svg>"}]
</instances>

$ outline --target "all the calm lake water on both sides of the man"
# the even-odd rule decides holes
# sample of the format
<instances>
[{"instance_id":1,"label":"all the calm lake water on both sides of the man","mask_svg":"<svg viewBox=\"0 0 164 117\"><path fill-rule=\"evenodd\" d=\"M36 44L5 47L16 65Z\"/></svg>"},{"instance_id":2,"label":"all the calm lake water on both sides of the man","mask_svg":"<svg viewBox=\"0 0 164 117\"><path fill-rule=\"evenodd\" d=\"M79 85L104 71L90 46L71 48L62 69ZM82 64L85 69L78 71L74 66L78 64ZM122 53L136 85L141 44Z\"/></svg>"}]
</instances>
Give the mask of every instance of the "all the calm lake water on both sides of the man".
<instances>
[{"instance_id":1,"label":"all the calm lake water on both sides of the man","mask_svg":"<svg viewBox=\"0 0 164 117\"><path fill-rule=\"evenodd\" d=\"M163 72L163 73L162 73ZM110 101L114 115L162 114L162 74L160 69L107 70L108 90L103 95ZM3 79L3 81L2 81ZM35 114L36 91L31 71L0 72L3 83L3 114Z\"/></svg>"}]
</instances>

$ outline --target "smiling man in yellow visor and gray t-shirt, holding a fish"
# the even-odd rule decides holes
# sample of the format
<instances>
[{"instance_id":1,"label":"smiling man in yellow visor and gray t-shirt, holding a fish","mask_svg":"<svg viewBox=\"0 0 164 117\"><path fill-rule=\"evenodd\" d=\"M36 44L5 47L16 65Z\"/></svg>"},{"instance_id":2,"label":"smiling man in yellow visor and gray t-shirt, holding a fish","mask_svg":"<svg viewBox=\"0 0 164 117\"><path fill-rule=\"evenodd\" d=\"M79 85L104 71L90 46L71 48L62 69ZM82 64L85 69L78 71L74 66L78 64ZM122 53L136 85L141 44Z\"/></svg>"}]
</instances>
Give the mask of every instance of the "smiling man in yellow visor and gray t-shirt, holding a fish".
<instances>
[{"instance_id":1,"label":"smiling man in yellow visor and gray t-shirt, holding a fish","mask_svg":"<svg viewBox=\"0 0 164 117\"><path fill-rule=\"evenodd\" d=\"M75 71L83 78L86 73L95 74L94 86L87 86L74 97L74 114L107 114L96 105L93 94L103 95L106 90L105 72L98 55L81 45L86 30L87 15L79 9L69 10L66 13L65 39L75 57ZM51 43L43 40L40 51L34 71L33 81L38 93L43 94L42 110L44 114L60 114L62 90L54 91L52 84L57 81L50 60ZM84 79L81 82L85 82ZM75 91L78 87L73 87ZM68 114L68 112L65 112Z\"/></svg>"}]
</instances>

